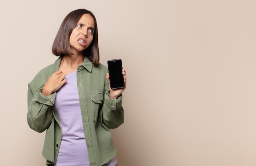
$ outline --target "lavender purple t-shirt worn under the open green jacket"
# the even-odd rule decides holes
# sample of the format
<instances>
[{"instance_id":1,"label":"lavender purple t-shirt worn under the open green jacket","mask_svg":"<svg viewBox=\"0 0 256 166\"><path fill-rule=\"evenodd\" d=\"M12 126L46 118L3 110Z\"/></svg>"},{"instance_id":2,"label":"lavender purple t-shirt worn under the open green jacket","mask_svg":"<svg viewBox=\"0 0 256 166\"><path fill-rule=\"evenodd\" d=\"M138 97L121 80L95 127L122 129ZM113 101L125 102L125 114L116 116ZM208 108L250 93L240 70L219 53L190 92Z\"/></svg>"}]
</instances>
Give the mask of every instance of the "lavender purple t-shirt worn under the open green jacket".
<instances>
[{"instance_id":1,"label":"lavender purple t-shirt worn under the open green jacket","mask_svg":"<svg viewBox=\"0 0 256 166\"><path fill-rule=\"evenodd\" d=\"M90 166L83 132L82 114L76 82L76 71L68 74L58 90L55 110L61 123L62 138L56 166ZM115 166L115 157L103 166Z\"/></svg>"}]
</instances>

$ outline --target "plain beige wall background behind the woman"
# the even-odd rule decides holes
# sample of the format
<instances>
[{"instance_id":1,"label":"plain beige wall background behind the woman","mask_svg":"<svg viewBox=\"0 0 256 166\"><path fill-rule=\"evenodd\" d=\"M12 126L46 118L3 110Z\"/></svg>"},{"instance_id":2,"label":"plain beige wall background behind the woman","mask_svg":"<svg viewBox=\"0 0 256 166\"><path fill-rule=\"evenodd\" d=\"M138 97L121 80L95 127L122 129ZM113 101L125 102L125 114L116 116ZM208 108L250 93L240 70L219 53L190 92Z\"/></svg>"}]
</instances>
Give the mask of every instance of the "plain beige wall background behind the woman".
<instances>
[{"instance_id":1,"label":"plain beige wall background behind the woman","mask_svg":"<svg viewBox=\"0 0 256 166\"><path fill-rule=\"evenodd\" d=\"M101 63L127 71L118 166L256 166L255 0L2 0L1 165L45 165L27 83L79 8L97 18Z\"/></svg>"}]
</instances>

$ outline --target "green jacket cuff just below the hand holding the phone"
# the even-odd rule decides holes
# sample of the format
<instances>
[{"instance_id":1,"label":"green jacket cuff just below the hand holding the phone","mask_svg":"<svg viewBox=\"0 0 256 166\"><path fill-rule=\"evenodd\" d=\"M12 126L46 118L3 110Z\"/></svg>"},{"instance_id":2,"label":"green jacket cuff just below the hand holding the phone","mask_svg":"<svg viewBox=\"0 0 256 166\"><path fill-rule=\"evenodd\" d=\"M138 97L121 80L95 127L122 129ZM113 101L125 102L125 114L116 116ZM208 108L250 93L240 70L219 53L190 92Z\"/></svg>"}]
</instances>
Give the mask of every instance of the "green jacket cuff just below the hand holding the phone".
<instances>
[{"instance_id":1,"label":"green jacket cuff just below the hand holding the phone","mask_svg":"<svg viewBox=\"0 0 256 166\"><path fill-rule=\"evenodd\" d=\"M105 92L105 104L110 110L117 110L122 106L123 95L121 94L117 99L110 99L109 91Z\"/></svg>"}]
</instances>

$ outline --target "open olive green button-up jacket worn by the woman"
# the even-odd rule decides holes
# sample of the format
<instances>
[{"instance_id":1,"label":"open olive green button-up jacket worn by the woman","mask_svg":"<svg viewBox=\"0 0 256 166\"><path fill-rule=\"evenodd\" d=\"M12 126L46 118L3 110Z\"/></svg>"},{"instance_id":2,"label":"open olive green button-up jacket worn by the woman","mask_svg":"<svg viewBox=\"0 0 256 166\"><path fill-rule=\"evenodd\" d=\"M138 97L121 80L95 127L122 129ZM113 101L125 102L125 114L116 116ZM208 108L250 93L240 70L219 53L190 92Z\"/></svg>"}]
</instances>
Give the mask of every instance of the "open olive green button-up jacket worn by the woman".
<instances>
[{"instance_id":1,"label":"open olive green button-up jacket worn by the woman","mask_svg":"<svg viewBox=\"0 0 256 166\"><path fill-rule=\"evenodd\" d=\"M61 58L40 70L28 84L27 122L37 132L46 130L42 154L48 166L54 166L56 162L62 131L54 110L56 92L46 97L41 92L48 78L58 70ZM109 129L124 123L122 95L110 99L107 72L106 66L92 65L87 57L77 67L77 87L90 166L101 166L115 156L116 148Z\"/></svg>"}]
</instances>

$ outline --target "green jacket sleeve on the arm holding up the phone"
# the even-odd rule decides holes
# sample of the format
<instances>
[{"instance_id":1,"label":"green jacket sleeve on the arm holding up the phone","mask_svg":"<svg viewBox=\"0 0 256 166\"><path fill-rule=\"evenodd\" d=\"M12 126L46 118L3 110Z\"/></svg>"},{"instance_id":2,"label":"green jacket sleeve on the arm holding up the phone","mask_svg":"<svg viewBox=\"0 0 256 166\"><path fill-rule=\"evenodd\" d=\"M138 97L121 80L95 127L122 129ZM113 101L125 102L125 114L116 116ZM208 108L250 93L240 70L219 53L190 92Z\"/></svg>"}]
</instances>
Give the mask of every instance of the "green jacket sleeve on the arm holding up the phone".
<instances>
[{"instance_id":1,"label":"green jacket sleeve on the arm holding up the phone","mask_svg":"<svg viewBox=\"0 0 256 166\"><path fill-rule=\"evenodd\" d=\"M123 96L117 99L110 99L108 81L105 83L105 99L102 106L102 122L108 128L117 128L124 123L124 109L122 107Z\"/></svg>"}]
</instances>

